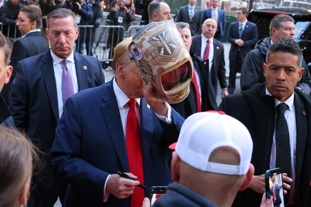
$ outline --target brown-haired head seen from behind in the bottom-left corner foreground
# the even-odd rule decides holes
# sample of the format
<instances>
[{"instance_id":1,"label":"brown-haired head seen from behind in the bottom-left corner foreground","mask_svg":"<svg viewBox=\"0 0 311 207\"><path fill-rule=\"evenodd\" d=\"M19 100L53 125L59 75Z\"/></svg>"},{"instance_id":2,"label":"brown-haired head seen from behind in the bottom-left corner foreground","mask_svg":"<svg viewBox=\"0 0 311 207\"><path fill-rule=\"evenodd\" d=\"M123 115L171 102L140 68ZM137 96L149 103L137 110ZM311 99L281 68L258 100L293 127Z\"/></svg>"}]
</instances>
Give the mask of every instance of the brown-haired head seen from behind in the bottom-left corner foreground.
<instances>
[{"instance_id":1,"label":"brown-haired head seen from behind in the bottom-left corner foreground","mask_svg":"<svg viewBox=\"0 0 311 207\"><path fill-rule=\"evenodd\" d=\"M34 164L34 145L20 132L0 126L0 206L26 206Z\"/></svg>"}]
</instances>

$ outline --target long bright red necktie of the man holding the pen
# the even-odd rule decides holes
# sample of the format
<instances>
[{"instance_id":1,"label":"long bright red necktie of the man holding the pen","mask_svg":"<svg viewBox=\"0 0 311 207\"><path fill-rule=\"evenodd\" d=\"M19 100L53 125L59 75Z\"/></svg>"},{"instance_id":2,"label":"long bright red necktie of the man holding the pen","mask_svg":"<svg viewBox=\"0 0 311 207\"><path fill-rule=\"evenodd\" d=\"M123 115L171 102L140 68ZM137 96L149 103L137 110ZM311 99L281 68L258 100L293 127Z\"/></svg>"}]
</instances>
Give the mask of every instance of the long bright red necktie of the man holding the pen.
<instances>
[{"instance_id":1,"label":"long bright red necktie of the man holding the pen","mask_svg":"<svg viewBox=\"0 0 311 207\"><path fill-rule=\"evenodd\" d=\"M126 120L126 150L128 152L128 165L130 173L137 176L137 180L144 184L144 170L142 166L142 144L140 140L140 127L136 114L136 100L130 99L128 117ZM132 194L131 207L142 206L145 192L140 187L135 187Z\"/></svg>"}]
</instances>

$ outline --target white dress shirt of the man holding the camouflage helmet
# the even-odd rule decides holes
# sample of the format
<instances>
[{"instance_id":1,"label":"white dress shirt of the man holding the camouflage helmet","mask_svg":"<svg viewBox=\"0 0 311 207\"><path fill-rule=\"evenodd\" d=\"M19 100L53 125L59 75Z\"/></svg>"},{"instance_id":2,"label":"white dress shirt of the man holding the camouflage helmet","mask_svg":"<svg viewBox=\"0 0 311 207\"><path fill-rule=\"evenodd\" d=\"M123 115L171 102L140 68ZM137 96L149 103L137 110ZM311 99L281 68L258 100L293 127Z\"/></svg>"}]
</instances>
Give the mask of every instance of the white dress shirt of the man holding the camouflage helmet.
<instances>
[{"instance_id":1,"label":"white dress shirt of the man holding the camouflage helmet","mask_svg":"<svg viewBox=\"0 0 311 207\"><path fill-rule=\"evenodd\" d=\"M120 117L121 117L121 121L122 121L122 126L123 126L123 132L124 132L124 137L126 139L126 124L127 124L127 117L128 117L128 110L130 109L130 106L128 105L128 101L130 100L130 98L128 98L128 96L120 89L120 87L118 86L117 82L116 82L116 78L114 77L113 79L113 87L114 87L114 94L116 96L117 102L118 102L118 108L120 111ZM136 115L138 118L138 122L139 122L139 126L140 126L140 98L136 98L135 99L137 101L136 104ZM158 114L156 114L156 116L163 122L166 122L168 124L171 123L171 112L172 109L171 107L168 105L168 113L167 113L167 117L163 117L160 116ZM106 193L106 185L107 185L107 181L108 178L110 177L110 175L108 175L106 181L105 181L105 185L104 185L104 198L103 201L106 202L108 200L108 196L109 193Z\"/></svg>"}]
</instances>

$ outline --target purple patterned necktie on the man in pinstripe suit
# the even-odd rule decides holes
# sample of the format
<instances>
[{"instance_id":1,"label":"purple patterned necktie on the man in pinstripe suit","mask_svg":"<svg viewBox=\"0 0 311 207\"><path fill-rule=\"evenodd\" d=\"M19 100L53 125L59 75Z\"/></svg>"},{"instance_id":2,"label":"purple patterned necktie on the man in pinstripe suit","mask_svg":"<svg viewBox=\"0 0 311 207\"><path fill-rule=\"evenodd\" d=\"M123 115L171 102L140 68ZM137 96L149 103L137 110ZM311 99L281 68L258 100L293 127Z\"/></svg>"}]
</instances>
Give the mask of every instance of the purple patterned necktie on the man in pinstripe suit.
<instances>
[{"instance_id":1,"label":"purple patterned necktie on the man in pinstripe suit","mask_svg":"<svg viewBox=\"0 0 311 207\"><path fill-rule=\"evenodd\" d=\"M73 85L71 73L67 67L68 60L64 59L62 62L63 62L62 93L63 93L63 106L64 106L68 97L73 95Z\"/></svg>"}]
</instances>

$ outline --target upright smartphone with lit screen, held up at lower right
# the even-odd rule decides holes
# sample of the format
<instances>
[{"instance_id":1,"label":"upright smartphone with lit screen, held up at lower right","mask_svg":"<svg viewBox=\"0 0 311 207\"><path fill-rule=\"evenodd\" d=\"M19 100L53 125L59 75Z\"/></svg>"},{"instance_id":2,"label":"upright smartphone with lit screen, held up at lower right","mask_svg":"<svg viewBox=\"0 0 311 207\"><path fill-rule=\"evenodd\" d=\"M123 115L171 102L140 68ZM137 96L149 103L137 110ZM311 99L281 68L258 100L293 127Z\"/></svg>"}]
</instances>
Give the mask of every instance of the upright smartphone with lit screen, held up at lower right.
<instances>
[{"instance_id":1,"label":"upright smartphone with lit screen, held up at lower right","mask_svg":"<svg viewBox=\"0 0 311 207\"><path fill-rule=\"evenodd\" d=\"M272 207L284 207L283 179L281 168L267 170L265 173L266 199L272 196Z\"/></svg>"}]
</instances>

